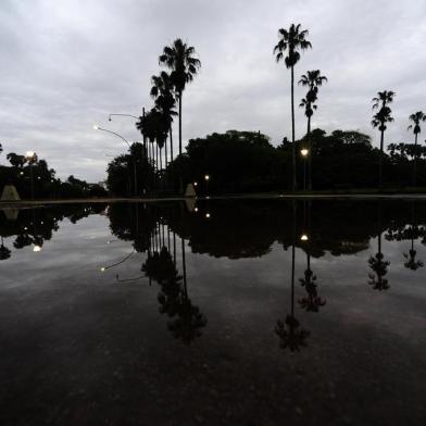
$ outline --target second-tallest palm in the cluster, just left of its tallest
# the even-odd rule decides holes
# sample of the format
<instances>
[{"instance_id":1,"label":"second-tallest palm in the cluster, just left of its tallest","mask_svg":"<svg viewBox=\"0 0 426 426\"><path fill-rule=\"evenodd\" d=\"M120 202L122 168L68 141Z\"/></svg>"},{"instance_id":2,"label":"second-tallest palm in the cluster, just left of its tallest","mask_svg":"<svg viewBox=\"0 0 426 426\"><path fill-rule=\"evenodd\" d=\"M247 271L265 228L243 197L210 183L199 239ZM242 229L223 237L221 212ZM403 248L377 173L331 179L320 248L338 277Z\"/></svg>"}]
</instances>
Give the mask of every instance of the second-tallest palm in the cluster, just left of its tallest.
<instances>
[{"instance_id":1,"label":"second-tallest palm in the cluster, just left of its tallest","mask_svg":"<svg viewBox=\"0 0 426 426\"><path fill-rule=\"evenodd\" d=\"M175 111L176 100L174 96L174 86L171 75L162 71L160 75L151 77L152 88L151 97L155 99L156 109L164 115L164 121L168 124L170 142L171 142L171 162L173 161L173 116L177 115ZM165 145L165 166L167 167L167 145Z\"/></svg>"}]
</instances>

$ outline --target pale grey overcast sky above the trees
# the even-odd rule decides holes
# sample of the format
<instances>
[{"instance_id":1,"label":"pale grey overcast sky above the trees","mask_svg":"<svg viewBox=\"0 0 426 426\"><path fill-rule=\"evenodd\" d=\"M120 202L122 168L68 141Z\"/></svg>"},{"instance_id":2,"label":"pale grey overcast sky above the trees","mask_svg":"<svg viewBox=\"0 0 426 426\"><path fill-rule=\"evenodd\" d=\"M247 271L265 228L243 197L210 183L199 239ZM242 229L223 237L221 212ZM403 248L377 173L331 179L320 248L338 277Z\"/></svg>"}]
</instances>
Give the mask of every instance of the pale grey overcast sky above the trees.
<instances>
[{"instance_id":1,"label":"pale grey overcast sky above the trees","mask_svg":"<svg viewBox=\"0 0 426 426\"><path fill-rule=\"evenodd\" d=\"M377 145L371 100L393 90L386 143L412 141L408 117L426 111L425 22L424 0L1 0L0 163L33 150L63 179L103 180L126 146L93 124L140 140L134 120L108 115L152 106L150 78L178 37L202 63L184 93L184 145L237 129L276 146L291 136L290 72L273 48L291 23L312 42L296 78L308 70L328 77L313 127L358 129ZM296 104L303 96L296 87ZM303 136L301 109L296 126Z\"/></svg>"}]
</instances>

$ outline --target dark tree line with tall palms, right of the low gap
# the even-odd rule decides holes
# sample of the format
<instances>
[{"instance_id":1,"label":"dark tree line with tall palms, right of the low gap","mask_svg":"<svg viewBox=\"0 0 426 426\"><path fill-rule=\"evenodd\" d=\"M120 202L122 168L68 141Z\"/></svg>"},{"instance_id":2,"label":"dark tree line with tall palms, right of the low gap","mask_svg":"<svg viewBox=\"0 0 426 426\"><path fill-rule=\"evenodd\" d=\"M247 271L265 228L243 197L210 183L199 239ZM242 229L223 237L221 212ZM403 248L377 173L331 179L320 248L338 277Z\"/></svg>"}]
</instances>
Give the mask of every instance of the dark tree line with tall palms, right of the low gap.
<instances>
[{"instance_id":1,"label":"dark tree line with tall palms, right of the low gap","mask_svg":"<svg viewBox=\"0 0 426 426\"><path fill-rule=\"evenodd\" d=\"M217 191L233 191L233 188L245 191L260 188L262 190L297 190L298 183L300 188L300 181L303 179L302 170L306 175L305 189L310 190L360 188L361 184L364 187L378 187L379 189L384 185L399 188L425 185L425 148L418 145L421 125L426 121L425 113L417 111L409 116L411 124L408 129L413 131L414 143L390 143L387 148L388 153L386 152L385 134L389 124L393 122L391 104L396 92L392 90L378 91L377 96L372 99L371 124L374 129L379 131L378 149L372 147L369 136L358 131L335 130L326 136L323 130L312 130L312 120L318 108L320 88L328 79L321 70L309 70L300 78L295 75L295 68L301 61L301 53L309 49L312 49L309 30L302 29L300 24L291 24L289 28L278 30L278 42L273 51L276 61L284 62L285 66L290 70L291 140L284 138L283 143L274 151L272 146L260 147L256 145L259 138L270 140L265 135L258 136L252 131L230 130L222 136L213 134L205 138L189 140L186 152L184 152L183 93L187 85L196 77L201 62L197 58L195 48L179 38L171 46L164 47L163 52L159 55L159 64L166 71L162 70L159 75L151 77L150 95L154 100L154 105L146 114L143 113L136 124L143 136L143 147L148 158L147 168L152 168L148 174L151 175L149 178L151 187L181 191L184 185L193 181L199 184L200 180L202 181L203 175L209 175L212 176L211 188ZM305 136L299 140L296 139L296 82L306 88L306 92L299 103L306 117L306 131ZM172 126L176 116L178 117L179 145L178 155L175 158ZM247 140L248 135L251 140ZM353 140L348 139L350 136L353 137ZM339 143L340 137L343 137L342 143ZM220 156L214 156L214 148L211 146L206 148L212 139L224 141ZM229 139L231 139L230 142ZM238 147L240 150L235 150L235 139L241 142ZM202 147L204 142L205 146ZM338 149L340 156L337 155L337 152L329 150L329 145ZM249 163L252 162L248 167L251 173L246 173L245 170L241 171L241 167L247 167L247 164L242 164L245 163L242 158L248 155L250 147L253 146L258 150L263 148L263 151L258 158L259 161L255 158L249 161ZM163 149L165 149L164 156ZM204 151L203 154L200 154L200 151ZM254 154L256 150L252 149L252 151ZM286 153L284 156L281 155L283 151ZM301 152L304 154L304 159L301 158ZM329 155L328 159L325 156L326 153ZM270 171L264 173L264 168L267 168L266 159L271 161ZM364 164L358 163L358 161L364 162ZM216 164L217 162L225 162L226 170L221 164ZM342 162L346 162L347 166L350 163L349 170L340 166ZM213 173L216 170L224 170L225 175L222 172L221 175ZM240 172L243 172L242 175ZM265 177L265 174L268 177ZM245 176L246 183L239 184L242 176ZM223 185L226 179L230 179L228 185ZM114 180L114 177L111 180ZM145 187L148 186L147 183ZM116 186L114 188L117 190ZM123 192L123 190L120 191Z\"/></svg>"}]
</instances>

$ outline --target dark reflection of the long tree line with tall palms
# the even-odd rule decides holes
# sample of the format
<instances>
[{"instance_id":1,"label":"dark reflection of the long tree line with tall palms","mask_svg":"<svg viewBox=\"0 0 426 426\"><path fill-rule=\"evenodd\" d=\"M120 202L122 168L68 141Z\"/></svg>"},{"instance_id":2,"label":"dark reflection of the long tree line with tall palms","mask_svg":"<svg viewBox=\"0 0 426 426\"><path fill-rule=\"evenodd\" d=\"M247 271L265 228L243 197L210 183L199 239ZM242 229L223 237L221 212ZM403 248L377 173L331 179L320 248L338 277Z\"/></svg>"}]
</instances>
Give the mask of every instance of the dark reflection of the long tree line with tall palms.
<instances>
[{"instance_id":1,"label":"dark reflection of the long tree line with tall palms","mask_svg":"<svg viewBox=\"0 0 426 426\"><path fill-rule=\"evenodd\" d=\"M405 204L401 206L386 202L315 201L312 206L312 203L304 202L302 209L297 202L270 203L268 201L263 205L245 204L245 202L198 203L197 209L190 211L176 203L141 209L145 213L143 217L139 218L139 224L145 223L146 226L149 224L150 228L148 258L142 265L142 271L150 281L154 280L160 285L158 297L160 312L174 318L168 323L168 328L175 337L189 342L201 334L200 328L206 323L200 310L191 304L188 296L185 239L189 240L192 252L229 259L261 256L271 250L275 240L278 240L285 250L291 248L290 312L284 321L278 320L275 326L280 346L291 351L299 351L305 346L310 335L297 318L295 300L301 309L310 313L318 312L326 304L325 299L318 293L318 280L311 265L312 258L320 258L325 254L325 251L330 251L336 256L366 250L369 240L377 236L377 253L368 259L368 266L372 270L368 274L368 284L374 289L388 289L386 275L389 262L384 258L381 246L384 229L388 229L387 240L412 240L412 248L408 255L410 259L406 260L405 266L413 271L423 266L423 262L415 260L414 239L423 237L422 242L425 242L425 227L415 223L414 203L410 217L406 215ZM324 211L325 206L328 213ZM125 208L116 205L110 209L111 228L115 229L116 235L134 241L143 239L133 235L135 224L131 224L131 221L130 223L124 221L123 217L118 217L120 215L115 217L115 209ZM419 210L424 211L425 205L419 205ZM209 218L205 214L208 211ZM405 225L408 222L411 223L409 230ZM338 235L341 236L340 240ZM176 266L176 238L180 238L181 245L181 275ZM297 248L305 252L306 267L303 276L299 277L300 289L304 290L304 296L295 299ZM413 266L414 262L415 266Z\"/></svg>"}]
</instances>

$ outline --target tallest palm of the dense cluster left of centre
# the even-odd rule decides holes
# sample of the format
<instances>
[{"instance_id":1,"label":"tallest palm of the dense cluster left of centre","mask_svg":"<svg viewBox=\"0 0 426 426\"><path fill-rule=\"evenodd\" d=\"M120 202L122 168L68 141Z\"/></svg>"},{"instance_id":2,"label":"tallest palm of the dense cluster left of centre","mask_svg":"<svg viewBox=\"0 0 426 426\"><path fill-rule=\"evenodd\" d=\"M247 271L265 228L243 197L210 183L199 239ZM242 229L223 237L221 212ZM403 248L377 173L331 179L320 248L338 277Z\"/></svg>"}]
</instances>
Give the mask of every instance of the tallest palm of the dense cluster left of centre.
<instances>
[{"instance_id":1,"label":"tallest palm of the dense cluster left of centre","mask_svg":"<svg viewBox=\"0 0 426 426\"><path fill-rule=\"evenodd\" d=\"M192 82L201 66L199 59L195 58L196 49L177 38L172 46L166 46L160 55L160 64L172 71L171 78L179 103L179 155L181 155L181 95L187 83Z\"/></svg>"}]
</instances>

